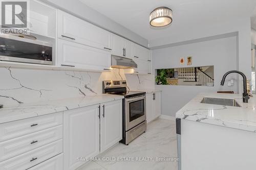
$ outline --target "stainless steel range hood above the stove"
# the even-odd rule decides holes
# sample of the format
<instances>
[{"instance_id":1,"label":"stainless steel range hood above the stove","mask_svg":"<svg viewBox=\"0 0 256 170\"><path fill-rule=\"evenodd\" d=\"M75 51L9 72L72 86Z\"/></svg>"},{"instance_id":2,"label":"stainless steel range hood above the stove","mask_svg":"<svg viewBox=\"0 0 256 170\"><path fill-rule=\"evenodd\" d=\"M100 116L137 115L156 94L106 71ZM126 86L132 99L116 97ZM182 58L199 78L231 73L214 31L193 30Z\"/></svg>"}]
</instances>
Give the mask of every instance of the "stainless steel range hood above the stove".
<instances>
[{"instance_id":1,"label":"stainless steel range hood above the stove","mask_svg":"<svg viewBox=\"0 0 256 170\"><path fill-rule=\"evenodd\" d=\"M111 56L111 67L112 68L137 68L137 64L129 58Z\"/></svg>"}]
</instances>

